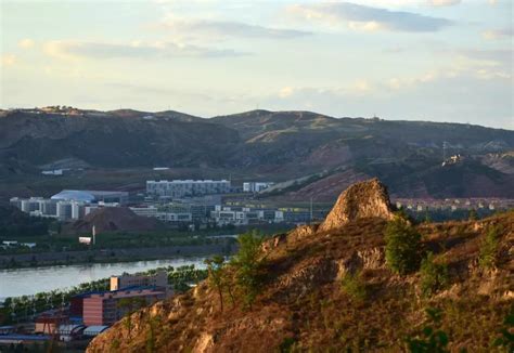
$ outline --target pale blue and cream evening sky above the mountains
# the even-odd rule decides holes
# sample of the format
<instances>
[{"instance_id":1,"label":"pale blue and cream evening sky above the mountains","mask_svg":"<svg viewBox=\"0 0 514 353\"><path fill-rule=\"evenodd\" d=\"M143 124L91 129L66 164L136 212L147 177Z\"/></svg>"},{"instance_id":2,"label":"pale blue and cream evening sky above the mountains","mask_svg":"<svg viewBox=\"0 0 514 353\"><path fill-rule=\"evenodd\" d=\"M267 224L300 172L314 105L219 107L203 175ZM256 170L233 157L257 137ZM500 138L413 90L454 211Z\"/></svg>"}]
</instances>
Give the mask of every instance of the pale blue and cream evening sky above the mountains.
<instances>
[{"instance_id":1,"label":"pale blue and cream evening sky above the mountains","mask_svg":"<svg viewBox=\"0 0 514 353\"><path fill-rule=\"evenodd\" d=\"M0 0L0 107L514 129L511 0Z\"/></svg>"}]
</instances>

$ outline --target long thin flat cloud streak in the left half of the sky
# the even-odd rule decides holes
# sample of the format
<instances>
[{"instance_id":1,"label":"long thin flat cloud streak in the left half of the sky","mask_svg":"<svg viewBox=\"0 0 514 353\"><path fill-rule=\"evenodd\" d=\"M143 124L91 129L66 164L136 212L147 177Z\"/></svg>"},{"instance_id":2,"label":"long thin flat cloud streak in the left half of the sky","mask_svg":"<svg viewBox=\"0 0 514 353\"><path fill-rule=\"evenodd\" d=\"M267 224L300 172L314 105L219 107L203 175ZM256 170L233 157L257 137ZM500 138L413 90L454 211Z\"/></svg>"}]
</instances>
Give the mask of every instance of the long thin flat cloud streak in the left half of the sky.
<instances>
[{"instance_id":1,"label":"long thin flat cloud streak in the left half of the sky","mask_svg":"<svg viewBox=\"0 0 514 353\"><path fill-rule=\"evenodd\" d=\"M174 42L106 43L54 40L44 43L43 51L59 58L169 58L239 56L230 49L210 49Z\"/></svg>"}]
</instances>

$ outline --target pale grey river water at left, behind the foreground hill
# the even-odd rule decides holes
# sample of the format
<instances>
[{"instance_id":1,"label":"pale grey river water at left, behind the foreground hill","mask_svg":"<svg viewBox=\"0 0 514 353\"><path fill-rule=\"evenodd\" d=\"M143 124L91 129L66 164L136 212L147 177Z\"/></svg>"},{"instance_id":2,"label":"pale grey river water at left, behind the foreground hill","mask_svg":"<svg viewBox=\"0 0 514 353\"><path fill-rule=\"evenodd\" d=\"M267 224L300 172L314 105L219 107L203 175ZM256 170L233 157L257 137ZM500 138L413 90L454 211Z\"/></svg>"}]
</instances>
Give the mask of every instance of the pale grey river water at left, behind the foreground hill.
<instances>
[{"instance_id":1,"label":"pale grey river water at left, behind the foreground hill","mask_svg":"<svg viewBox=\"0 0 514 353\"><path fill-rule=\"evenodd\" d=\"M62 266L0 270L0 301L7 297L31 296L40 291L64 289L81 283L136 273L164 266L194 264L205 269L204 258L175 258L166 260L93 263Z\"/></svg>"}]
</instances>

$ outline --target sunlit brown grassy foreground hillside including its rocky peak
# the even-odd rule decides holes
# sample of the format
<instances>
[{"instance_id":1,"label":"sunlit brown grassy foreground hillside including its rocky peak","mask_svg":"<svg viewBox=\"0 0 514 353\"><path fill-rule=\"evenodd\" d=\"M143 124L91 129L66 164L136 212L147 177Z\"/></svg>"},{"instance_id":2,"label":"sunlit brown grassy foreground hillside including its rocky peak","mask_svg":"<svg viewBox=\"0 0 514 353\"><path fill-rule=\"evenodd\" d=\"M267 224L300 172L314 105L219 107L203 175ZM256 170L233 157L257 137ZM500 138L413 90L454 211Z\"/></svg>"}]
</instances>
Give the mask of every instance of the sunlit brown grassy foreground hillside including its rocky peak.
<instances>
[{"instance_id":1,"label":"sunlit brown grassy foreground hillside including its rocky peak","mask_svg":"<svg viewBox=\"0 0 514 353\"><path fill-rule=\"evenodd\" d=\"M370 217L374 211L381 217ZM400 276L385 260L391 211L380 182L357 184L320 227L303 226L265 243L252 306L243 309L235 290L233 304L223 295L221 311L215 287L203 282L136 312L130 326L126 318L118 322L88 352L399 352L408 337L423 338L426 326L446 332L450 351L494 351L513 304L514 212L413 225L422 252L434 252L448 269L446 285L426 295L420 272ZM499 230L498 258L487 270L478 258L492 226ZM440 318L431 321L427 309Z\"/></svg>"}]
</instances>

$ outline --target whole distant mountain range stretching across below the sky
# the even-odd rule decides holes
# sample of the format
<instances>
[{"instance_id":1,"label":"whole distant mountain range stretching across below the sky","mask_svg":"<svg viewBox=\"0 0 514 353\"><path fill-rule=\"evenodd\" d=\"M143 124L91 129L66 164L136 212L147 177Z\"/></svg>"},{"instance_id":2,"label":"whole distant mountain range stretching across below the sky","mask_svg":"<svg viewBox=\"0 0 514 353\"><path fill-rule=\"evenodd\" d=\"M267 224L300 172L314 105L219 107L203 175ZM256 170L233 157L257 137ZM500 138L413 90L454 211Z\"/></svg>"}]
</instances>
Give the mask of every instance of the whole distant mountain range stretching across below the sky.
<instances>
[{"instance_id":1,"label":"whole distant mountain range stretching across below the sky","mask_svg":"<svg viewBox=\"0 0 514 353\"><path fill-rule=\"evenodd\" d=\"M381 178L394 196L514 197L513 152L510 130L311 112L210 119L172 110L0 112L0 178L7 183L51 168L165 166L282 182L264 196L298 200L333 200L345 185L370 176Z\"/></svg>"}]
</instances>

